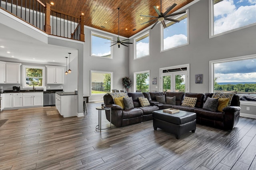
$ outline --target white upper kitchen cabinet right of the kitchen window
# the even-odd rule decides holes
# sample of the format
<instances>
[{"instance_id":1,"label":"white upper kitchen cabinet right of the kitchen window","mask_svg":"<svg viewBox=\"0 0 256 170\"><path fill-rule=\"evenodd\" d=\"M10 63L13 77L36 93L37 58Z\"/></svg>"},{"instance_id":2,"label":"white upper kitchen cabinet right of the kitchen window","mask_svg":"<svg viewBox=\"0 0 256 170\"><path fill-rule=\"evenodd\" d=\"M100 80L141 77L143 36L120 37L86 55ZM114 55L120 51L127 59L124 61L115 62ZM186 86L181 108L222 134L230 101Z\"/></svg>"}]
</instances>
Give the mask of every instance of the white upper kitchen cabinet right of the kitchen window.
<instances>
[{"instance_id":1,"label":"white upper kitchen cabinet right of the kitchen window","mask_svg":"<svg viewBox=\"0 0 256 170\"><path fill-rule=\"evenodd\" d=\"M46 65L47 68L47 84L63 84L64 83L64 69L63 67L54 67Z\"/></svg>"}]
</instances>

